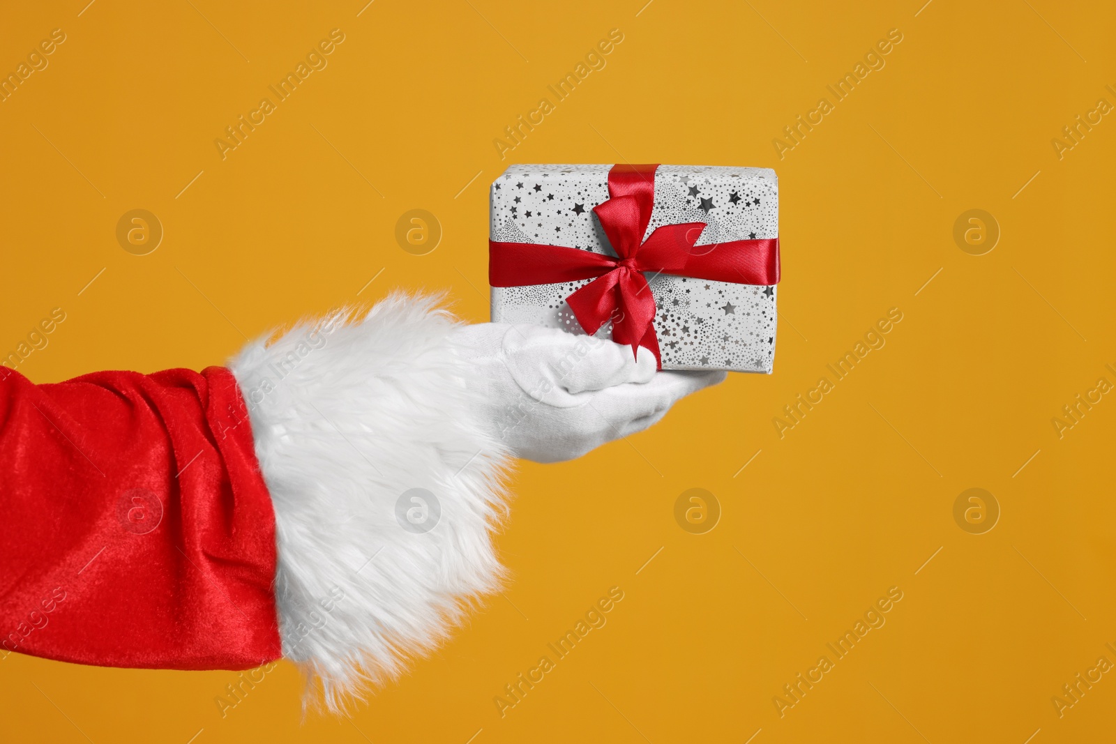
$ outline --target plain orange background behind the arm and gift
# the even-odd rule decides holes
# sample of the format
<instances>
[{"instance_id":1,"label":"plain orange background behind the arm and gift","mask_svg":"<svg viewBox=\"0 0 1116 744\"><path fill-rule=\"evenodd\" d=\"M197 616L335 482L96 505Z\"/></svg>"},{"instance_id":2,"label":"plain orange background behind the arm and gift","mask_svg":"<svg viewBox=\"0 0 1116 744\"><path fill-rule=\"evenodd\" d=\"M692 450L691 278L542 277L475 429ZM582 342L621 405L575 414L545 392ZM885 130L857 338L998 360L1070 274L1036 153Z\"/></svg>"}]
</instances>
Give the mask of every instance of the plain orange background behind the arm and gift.
<instances>
[{"instance_id":1,"label":"plain orange background behind the arm and gift","mask_svg":"<svg viewBox=\"0 0 1116 744\"><path fill-rule=\"evenodd\" d=\"M645 1L3 11L0 70L51 29L67 37L0 103L0 349L67 313L20 366L37 381L219 364L246 336L393 288L445 288L483 321L487 184L510 162L772 166L783 251L775 375L733 375L580 461L525 464L498 539L509 590L352 719L300 724L286 663L222 717L233 673L13 654L6 741L1110 735L1114 675L1062 717L1051 697L1099 656L1116 661L1116 402L1062 438L1051 418L1099 377L1116 383L1116 123L1061 160L1051 139L1116 103L1116 13ZM334 28L345 41L328 67L222 160L224 127ZM614 28L607 66L501 161L493 138ZM780 160L772 139L893 28L886 66ZM165 231L148 255L116 241L133 209ZM429 254L396 243L411 209L442 225ZM970 209L1001 231L983 255L954 242ZM891 308L903 320L886 346L780 438L772 418ZM691 487L722 509L705 534L674 520ZM1000 506L984 534L954 521L969 487ZM613 586L625 599L607 625L501 717L493 697ZM886 625L780 717L783 685L891 587L903 599Z\"/></svg>"}]
</instances>

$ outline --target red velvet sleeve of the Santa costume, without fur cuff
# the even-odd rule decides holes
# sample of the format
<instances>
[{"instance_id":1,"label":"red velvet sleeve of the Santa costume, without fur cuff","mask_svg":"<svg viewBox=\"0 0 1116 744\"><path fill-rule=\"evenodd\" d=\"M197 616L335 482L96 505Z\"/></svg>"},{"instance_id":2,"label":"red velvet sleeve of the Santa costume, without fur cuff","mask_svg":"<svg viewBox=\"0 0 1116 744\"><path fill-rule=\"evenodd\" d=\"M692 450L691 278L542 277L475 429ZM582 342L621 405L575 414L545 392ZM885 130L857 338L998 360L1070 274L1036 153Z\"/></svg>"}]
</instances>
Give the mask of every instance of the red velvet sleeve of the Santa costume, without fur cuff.
<instances>
[{"instance_id":1,"label":"red velvet sleeve of the Santa costume, without fur cuff","mask_svg":"<svg viewBox=\"0 0 1116 744\"><path fill-rule=\"evenodd\" d=\"M0 367L0 655L254 667L281 655L275 573L228 369L33 385Z\"/></svg>"}]
</instances>

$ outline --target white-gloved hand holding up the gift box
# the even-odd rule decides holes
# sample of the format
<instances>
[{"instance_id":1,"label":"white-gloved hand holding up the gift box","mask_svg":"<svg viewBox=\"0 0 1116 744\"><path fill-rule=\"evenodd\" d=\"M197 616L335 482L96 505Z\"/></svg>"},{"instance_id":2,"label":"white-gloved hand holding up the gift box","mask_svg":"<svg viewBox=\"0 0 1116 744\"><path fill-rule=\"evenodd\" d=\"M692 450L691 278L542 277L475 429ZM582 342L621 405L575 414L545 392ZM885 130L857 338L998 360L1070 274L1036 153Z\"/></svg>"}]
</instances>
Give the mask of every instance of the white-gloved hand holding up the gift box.
<instances>
[{"instance_id":1,"label":"white-gloved hand holding up the gift box","mask_svg":"<svg viewBox=\"0 0 1116 744\"><path fill-rule=\"evenodd\" d=\"M655 371L655 357L591 336L529 325L478 323L451 335L454 350L481 366L485 410L518 456L539 463L580 457L643 431L680 398L715 385L723 371Z\"/></svg>"}]
</instances>

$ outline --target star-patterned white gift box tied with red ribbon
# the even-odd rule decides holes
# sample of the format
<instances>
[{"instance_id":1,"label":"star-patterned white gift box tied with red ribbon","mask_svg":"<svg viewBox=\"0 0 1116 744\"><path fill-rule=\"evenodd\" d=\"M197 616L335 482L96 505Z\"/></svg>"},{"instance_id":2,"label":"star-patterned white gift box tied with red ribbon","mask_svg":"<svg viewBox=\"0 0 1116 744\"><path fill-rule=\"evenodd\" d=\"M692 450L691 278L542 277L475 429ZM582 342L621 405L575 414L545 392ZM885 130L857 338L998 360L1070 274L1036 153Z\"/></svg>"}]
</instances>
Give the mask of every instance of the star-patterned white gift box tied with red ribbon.
<instances>
[{"instance_id":1,"label":"star-patterned white gift box tied with red ribbon","mask_svg":"<svg viewBox=\"0 0 1116 744\"><path fill-rule=\"evenodd\" d=\"M644 346L662 369L771 373L771 168L512 165L490 204L493 321Z\"/></svg>"}]
</instances>

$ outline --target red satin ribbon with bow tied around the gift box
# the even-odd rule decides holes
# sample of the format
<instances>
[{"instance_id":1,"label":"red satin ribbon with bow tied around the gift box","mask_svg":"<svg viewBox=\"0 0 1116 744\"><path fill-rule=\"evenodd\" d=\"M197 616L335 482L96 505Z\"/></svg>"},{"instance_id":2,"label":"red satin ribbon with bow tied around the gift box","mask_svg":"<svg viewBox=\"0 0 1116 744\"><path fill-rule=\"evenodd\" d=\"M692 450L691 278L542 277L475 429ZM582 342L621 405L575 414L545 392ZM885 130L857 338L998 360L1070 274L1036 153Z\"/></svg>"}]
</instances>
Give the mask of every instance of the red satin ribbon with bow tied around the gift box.
<instances>
[{"instance_id":1,"label":"red satin ribbon with bow tied around the gift box","mask_svg":"<svg viewBox=\"0 0 1116 744\"><path fill-rule=\"evenodd\" d=\"M614 165L609 199L593 207L616 258L565 245L489 241L492 287L552 284L593 279L566 298L587 334L613 321L613 340L651 349L660 359L655 298L643 272L737 284L779 283L779 239L733 240L694 247L704 222L656 228L643 240L655 201L657 164ZM642 242L641 242L642 241Z\"/></svg>"}]
</instances>

